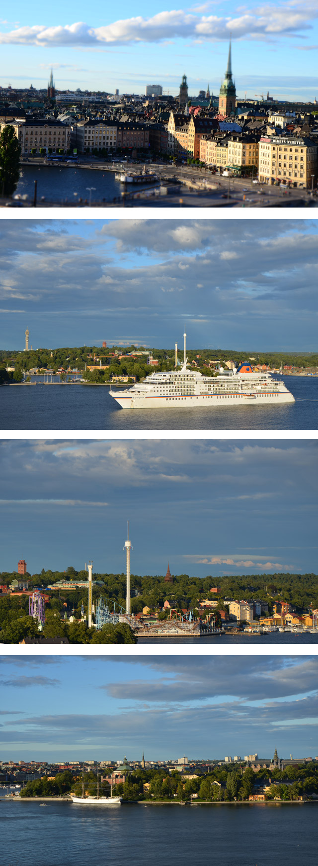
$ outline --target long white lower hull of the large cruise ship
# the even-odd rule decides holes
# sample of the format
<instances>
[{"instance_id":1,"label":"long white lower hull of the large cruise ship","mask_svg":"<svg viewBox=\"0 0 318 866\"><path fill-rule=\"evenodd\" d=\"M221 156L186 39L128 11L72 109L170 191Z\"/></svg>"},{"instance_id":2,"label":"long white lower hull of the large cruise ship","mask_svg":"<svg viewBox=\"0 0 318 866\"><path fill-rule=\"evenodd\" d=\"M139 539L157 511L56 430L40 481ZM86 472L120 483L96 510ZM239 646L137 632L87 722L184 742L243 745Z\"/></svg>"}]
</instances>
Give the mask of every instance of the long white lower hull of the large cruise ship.
<instances>
[{"instance_id":1,"label":"long white lower hull of the large cruise ship","mask_svg":"<svg viewBox=\"0 0 318 866\"><path fill-rule=\"evenodd\" d=\"M114 397L116 403L122 409L194 409L198 406L205 406L222 409L226 406L258 406L258 405L277 405L285 403L295 403L295 397L289 394L289 391L273 391L266 393L246 392L243 394L200 394L191 397L161 397L152 396L150 394L137 394L131 388L130 392L118 392L115 394L111 391L111 397Z\"/></svg>"}]
</instances>

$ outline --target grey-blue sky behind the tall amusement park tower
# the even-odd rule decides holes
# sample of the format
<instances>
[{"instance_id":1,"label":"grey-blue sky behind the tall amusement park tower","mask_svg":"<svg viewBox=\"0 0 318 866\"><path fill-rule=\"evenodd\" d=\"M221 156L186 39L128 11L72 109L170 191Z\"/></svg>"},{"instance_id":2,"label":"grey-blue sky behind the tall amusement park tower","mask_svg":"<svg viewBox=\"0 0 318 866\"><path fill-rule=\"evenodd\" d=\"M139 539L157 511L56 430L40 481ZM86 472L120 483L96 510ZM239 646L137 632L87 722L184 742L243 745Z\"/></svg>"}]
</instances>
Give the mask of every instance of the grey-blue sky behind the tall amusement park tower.
<instances>
[{"instance_id":1,"label":"grey-blue sky behind the tall amusement park tower","mask_svg":"<svg viewBox=\"0 0 318 866\"><path fill-rule=\"evenodd\" d=\"M317 443L9 440L1 571L317 572ZM18 527L18 531L17 531Z\"/></svg>"}]
</instances>

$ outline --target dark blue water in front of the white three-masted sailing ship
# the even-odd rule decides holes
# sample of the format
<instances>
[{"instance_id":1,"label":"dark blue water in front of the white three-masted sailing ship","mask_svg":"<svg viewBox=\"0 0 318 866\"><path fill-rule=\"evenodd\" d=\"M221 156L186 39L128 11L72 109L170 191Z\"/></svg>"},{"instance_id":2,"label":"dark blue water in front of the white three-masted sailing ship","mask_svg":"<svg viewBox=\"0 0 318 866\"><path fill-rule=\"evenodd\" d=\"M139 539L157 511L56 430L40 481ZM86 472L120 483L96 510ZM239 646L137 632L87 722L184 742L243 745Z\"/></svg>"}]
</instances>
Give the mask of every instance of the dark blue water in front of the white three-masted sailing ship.
<instances>
[{"instance_id":1,"label":"dark blue water in front of the white three-masted sailing ship","mask_svg":"<svg viewBox=\"0 0 318 866\"><path fill-rule=\"evenodd\" d=\"M311 866L318 807L0 803L1 866Z\"/></svg>"}]
</instances>

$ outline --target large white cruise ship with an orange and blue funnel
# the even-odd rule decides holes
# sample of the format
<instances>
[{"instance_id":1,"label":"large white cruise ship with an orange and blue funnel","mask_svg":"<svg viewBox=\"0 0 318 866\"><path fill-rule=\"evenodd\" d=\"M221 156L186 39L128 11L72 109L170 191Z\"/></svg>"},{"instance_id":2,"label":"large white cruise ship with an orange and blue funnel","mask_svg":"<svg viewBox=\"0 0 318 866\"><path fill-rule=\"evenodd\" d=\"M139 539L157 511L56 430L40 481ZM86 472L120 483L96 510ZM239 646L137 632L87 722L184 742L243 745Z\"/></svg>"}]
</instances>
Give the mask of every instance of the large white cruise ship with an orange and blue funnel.
<instances>
[{"instance_id":1,"label":"large white cruise ship with an orange and blue funnel","mask_svg":"<svg viewBox=\"0 0 318 866\"><path fill-rule=\"evenodd\" d=\"M283 384L267 372L254 372L249 362L239 369L224 370L218 376L204 376L188 369L186 337L181 370L153 372L143 382L123 391L111 391L111 397L122 409L177 409L211 406L222 408L235 405L277 405L295 403L295 397Z\"/></svg>"}]
</instances>

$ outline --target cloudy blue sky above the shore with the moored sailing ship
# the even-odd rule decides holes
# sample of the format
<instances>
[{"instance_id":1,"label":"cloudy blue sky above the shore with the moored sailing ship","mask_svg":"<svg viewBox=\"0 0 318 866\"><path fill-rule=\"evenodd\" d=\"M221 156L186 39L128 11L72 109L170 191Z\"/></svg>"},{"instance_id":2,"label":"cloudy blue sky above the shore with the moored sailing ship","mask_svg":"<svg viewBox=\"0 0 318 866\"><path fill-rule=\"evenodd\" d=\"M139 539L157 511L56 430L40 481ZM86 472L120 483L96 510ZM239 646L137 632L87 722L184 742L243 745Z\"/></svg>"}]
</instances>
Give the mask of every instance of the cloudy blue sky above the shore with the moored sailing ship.
<instances>
[{"instance_id":1,"label":"cloudy blue sky above the shore with the moored sailing ship","mask_svg":"<svg viewBox=\"0 0 318 866\"><path fill-rule=\"evenodd\" d=\"M4 656L0 759L315 758L317 675L310 655Z\"/></svg>"}]
</instances>

